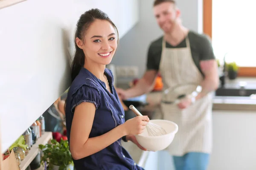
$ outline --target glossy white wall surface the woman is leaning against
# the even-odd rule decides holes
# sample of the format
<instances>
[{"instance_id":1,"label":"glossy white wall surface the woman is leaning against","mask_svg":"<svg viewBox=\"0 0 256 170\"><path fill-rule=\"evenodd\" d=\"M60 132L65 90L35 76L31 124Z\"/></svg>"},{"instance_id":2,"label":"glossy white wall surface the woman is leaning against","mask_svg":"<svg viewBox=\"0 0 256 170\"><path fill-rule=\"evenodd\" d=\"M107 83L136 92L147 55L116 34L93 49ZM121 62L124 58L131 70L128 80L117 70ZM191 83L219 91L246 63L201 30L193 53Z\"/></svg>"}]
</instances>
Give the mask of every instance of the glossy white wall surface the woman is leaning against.
<instances>
[{"instance_id":1,"label":"glossy white wall surface the woman is leaning against","mask_svg":"<svg viewBox=\"0 0 256 170\"><path fill-rule=\"evenodd\" d=\"M27 0L0 10L3 151L70 85L67 49L73 49L79 16L90 8L105 11L120 37L139 19L138 0Z\"/></svg>"}]
</instances>

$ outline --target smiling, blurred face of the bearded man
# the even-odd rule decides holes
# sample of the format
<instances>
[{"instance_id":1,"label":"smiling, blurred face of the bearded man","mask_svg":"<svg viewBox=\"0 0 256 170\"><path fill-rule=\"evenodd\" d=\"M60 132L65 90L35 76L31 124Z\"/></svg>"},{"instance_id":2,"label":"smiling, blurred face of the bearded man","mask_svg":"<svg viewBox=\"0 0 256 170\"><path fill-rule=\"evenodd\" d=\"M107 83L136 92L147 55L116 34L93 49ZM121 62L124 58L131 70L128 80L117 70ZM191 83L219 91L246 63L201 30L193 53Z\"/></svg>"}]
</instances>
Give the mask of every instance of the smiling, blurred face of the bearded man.
<instances>
[{"instance_id":1,"label":"smiling, blurred face of the bearded man","mask_svg":"<svg viewBox=\"0 0 256 170\"><path fill-rule=\"evenodd\" d=\"M180 11L175 7L174 3L164 2L154 6L154 16L160 28L169 33L177 23Z\"/></svg>"}]
</instances>

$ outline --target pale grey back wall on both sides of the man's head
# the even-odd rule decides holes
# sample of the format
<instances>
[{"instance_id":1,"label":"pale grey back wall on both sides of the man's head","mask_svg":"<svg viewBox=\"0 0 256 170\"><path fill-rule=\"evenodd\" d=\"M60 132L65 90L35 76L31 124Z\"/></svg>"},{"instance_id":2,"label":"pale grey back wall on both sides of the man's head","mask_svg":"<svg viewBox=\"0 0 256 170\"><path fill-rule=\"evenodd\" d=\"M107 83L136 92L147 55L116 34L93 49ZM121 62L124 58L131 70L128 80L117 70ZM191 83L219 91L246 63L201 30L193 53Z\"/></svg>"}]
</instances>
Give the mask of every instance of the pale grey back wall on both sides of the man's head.
<instances>
[{"instance_id":1,"label":"pale grey back wall on both sides of the man's head","mask_svg":"<svg viewBox=\"0 0 256 170\"><path fill-rule=\"evenodd\" d=\"M145 71L150 42L163 34L153 15L153 2L154 0L140 0L140 22L120 40L112 61L115 65L138 66L139 77ZM177 6L181 10L183 25L202 33L202 0L177 0Z\"/></svg>"}]
</instances>

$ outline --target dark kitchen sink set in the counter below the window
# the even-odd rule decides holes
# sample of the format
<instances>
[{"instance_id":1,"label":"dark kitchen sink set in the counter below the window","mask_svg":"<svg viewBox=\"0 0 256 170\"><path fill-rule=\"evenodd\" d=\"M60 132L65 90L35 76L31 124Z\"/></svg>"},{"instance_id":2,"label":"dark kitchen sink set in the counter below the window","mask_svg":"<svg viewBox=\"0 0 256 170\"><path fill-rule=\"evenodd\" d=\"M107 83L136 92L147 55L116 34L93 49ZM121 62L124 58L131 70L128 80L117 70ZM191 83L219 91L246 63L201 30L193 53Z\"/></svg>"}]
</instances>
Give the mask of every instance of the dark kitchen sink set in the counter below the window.
<instances>
[{"instance_id":1,"label":"dark kitchen sink set in the counter below the window","mask_svg":"<svg viewBox=\"0 0 256 170\"><path fill-rule=\"evenodd\" d=\"M215 96L251 96L256 94L256 83L254 84L227 84L215 91Z\"/></svg>"}]
</instances>

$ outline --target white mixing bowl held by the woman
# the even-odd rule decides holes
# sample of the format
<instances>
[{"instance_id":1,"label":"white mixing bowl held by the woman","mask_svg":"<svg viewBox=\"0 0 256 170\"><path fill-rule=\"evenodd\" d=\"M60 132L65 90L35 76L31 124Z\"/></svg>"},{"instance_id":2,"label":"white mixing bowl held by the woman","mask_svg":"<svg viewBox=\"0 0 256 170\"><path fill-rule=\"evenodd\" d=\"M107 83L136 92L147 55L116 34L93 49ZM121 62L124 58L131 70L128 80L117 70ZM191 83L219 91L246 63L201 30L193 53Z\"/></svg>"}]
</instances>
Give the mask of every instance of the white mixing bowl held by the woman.
<instances>
[{"instance_id":1,"label":"white mixing bowl held by the woman","mask_svg":"<svg viewBox=\"0 0 256 170\"><path fill-rule=\"evenodd\" d=\"M162 136L148 136L148 131L145 129L143 133L136 135L136 139L139 144L150 151L163 150L168 147L178 131L178 126L172 121L154 119L150 122L161 126L166 130L167 134Z\"/></svg>"}]
</instances>

